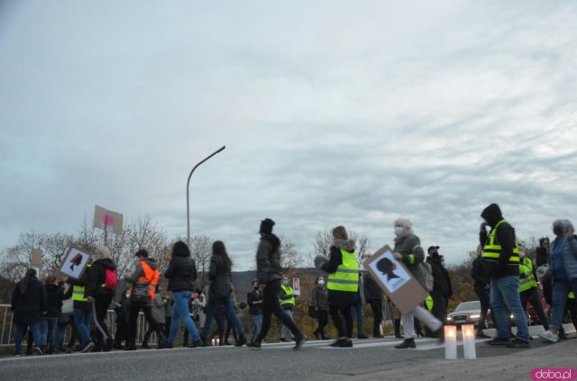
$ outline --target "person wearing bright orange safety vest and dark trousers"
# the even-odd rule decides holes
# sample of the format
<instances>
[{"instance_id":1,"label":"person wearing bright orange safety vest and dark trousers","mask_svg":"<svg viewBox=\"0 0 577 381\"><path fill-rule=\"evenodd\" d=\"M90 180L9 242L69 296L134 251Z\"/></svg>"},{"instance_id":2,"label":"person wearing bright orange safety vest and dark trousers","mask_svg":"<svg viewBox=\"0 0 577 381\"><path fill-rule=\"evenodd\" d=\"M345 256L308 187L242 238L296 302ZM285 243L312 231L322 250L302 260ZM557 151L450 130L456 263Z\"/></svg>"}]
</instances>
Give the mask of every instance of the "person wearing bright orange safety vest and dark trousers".
<instances>
[{"instance_id":1,"label":"person wearing bright orange safety vest and dark trousers","mask_svg":"<svg viewBox=\"0 0 577 381\"><path fill-rule=\"evenodd\" d=\"M136 324L138 320L138 313L141 310L144 312L146 321L152 326L159 337L159 349L169 348L164 332L160 329L160 324L152 318L151 303L154 300L154 291L159 281L159 266L154 259L148 258L148 251L140 249L136 251L136 264L134 272L126 277L124 281L133 284L130 299L130 318L128 322L128 337L126 338L126 347L124 350L136 350ZM146 289L148 298L145 302L137 301L135 296L135 288L141 287Z\"/></svg>"}]
</instances>

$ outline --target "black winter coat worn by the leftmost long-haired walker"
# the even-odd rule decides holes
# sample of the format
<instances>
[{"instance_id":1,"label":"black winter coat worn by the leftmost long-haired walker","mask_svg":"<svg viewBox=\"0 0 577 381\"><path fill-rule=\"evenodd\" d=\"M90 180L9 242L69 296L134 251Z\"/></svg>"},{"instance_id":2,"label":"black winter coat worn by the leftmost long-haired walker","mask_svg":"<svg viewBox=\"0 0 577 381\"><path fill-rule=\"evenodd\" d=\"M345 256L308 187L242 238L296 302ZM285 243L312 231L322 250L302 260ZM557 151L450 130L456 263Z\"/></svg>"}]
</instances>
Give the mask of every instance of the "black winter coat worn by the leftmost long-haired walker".
<instances>
[{"instance_id":1,"label":"black winter coat worn by the leftmost long-haired walker","mask_svg":"<svg viewBox=\"0 0 577 381\"><path fill-rule=\"evenodd\" d=\"M30 277L26 294L20 294L20 282L12 293L13 322L32 324L40 322L41 312L46 311L46 290L37 277Z\"/></svg>"}]
</instances>

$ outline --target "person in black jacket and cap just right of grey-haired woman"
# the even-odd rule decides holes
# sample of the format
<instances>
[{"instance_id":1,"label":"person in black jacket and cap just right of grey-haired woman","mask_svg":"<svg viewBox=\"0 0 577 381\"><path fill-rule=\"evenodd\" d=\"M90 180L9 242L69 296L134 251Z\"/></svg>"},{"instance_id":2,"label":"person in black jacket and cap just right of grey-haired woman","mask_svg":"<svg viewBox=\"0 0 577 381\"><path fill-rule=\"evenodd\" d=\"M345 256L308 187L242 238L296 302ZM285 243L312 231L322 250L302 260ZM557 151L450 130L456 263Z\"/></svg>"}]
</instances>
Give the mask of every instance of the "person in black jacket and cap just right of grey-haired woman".
<instances>
[{"instance_id":1,"label":"person in black jacket and cap just right of grey-haired woman","mask_svg":"<svg viewBox=\"0 0 577 381\"><path fill-rule=\"evenodd\" d=\"M441 264L442 256L439 255L439 247L431 246L427 250L426 263L431 265L433 270L433 289L430 295L433 298L433 309L431 313L440 320L445 322L447 319L447 303L452 295L451 279L448 279L448 274L445 274L443 265ZM426 330L430 333L430 330Z\"/></svg>"}]
</instances>

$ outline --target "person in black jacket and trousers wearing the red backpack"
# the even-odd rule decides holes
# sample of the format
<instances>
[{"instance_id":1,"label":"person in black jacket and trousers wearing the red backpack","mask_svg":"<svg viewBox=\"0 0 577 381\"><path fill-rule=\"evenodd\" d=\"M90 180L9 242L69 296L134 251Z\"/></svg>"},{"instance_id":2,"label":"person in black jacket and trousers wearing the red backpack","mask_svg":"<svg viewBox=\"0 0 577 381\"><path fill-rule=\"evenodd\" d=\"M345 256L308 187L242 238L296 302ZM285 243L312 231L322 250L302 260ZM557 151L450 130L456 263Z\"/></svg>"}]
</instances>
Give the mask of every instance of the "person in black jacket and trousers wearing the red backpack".
<instances>
[{"instance_id":1,"label":"person in black jacket and trousers wearing the red backpack","mask_svg":"<svg viewBox=\"0 0 577 381\"><path fill-rule=\"evenodd\" d=\"M92 303L92 313L95 322L100 326L100 329L102 329L102 331L100 331L100 329L96 327L96 347L93 351L99 352L100 350L104 350L108 352L112 349L114 341L108 333L105 319L106 313L108 313L108 307L114 298L114 289L105 288L105 280L106 270L114 270L115 272L116 265L112 260L110 249L105 246L100 246L96 249L94 258L94 263L88 269L87 284L84 293L87 296L88 303Z\"/></svg>"}]
</instances>

